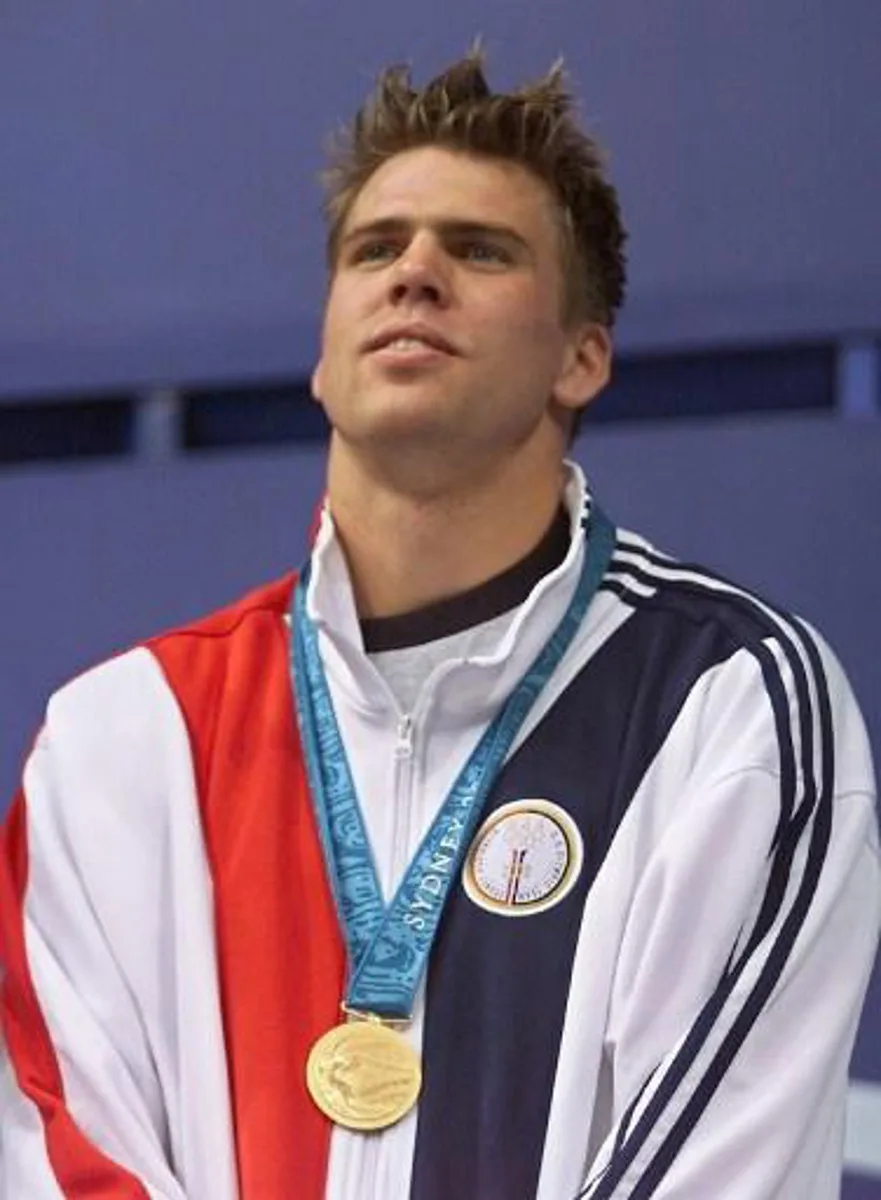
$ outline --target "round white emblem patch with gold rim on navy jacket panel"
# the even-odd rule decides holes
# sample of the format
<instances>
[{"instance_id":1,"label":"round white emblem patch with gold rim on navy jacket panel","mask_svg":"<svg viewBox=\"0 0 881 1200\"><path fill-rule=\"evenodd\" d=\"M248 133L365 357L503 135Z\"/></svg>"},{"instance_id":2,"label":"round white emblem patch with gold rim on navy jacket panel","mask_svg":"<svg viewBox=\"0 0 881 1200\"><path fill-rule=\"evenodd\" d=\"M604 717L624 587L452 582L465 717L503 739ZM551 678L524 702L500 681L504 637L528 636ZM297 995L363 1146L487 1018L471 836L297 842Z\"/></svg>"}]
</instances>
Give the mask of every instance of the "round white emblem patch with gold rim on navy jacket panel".
<instances>
[{"instance_id":1,"label":"round white emblem patch with gold rim on navy jacket panel","mask_svg":"<svg viewBox=\"0 0 881 1200\"><path fill-rule=\"evenodd\" d=\"M513 800L474 838L462 883L474 904L504 917L531 917L571 892L585 858L581 833L551 800Z\"/></svg>"}]
</instances>

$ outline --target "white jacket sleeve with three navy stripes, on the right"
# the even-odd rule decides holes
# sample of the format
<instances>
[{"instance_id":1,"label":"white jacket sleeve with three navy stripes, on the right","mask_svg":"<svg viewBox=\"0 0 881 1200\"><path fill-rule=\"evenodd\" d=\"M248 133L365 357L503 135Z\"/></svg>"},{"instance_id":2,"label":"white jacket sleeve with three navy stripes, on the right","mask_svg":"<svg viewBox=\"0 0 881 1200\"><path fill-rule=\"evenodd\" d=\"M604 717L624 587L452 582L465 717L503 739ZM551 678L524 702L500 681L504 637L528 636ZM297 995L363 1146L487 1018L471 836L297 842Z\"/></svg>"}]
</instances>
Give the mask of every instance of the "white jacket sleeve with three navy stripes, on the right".
<instances>
[{"instance_id":1,"label":"white jacket sleeve with three navy stripes, on the right","mask_svg":"<svg viewBox=\"0 0 881 1200\"><path fill-rule=\"evenodd\" d=\"M766 642L715 668L683 722L688 767L654 764L666 808L635 871L580 1196L839 1195L881 870L859 713L798 629L797 653Z\"/></svg>"}]
</instances>

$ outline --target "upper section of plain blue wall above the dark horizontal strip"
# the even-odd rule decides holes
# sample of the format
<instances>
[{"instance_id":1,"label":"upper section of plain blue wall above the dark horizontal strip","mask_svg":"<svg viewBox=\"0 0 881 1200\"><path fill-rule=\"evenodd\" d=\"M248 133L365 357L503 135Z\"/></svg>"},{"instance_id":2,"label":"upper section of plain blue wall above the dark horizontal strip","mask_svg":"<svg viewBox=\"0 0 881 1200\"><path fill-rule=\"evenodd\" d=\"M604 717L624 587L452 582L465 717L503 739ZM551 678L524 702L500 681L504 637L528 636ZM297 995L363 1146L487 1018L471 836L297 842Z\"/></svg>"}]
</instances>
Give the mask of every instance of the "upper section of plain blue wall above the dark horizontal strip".
<instances>
[{"instance_id":1,"label":"upper section of plain blue wall above the dark horizontal strip","mask_svg":"<svg viewBox=\"0 0 881 1200\"><path fill-rule=\"evenodd\" d=\"M877 0L4 0L0 388L302 371L326 132L475 31L613 151L624 344L877 328Z\"/></svg>"}]
</instances>

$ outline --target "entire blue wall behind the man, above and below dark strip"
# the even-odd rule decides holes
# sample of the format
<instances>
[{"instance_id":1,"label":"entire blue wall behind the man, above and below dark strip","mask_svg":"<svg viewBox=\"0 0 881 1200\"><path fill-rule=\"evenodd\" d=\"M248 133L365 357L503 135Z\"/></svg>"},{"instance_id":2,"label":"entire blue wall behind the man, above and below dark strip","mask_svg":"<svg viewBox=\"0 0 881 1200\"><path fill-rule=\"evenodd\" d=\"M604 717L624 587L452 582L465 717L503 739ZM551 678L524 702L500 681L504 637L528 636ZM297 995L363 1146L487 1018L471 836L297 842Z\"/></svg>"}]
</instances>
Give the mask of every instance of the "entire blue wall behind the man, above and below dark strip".
<instances>
[{"instance_id":1,"label":"entire blue wall behind the man, above and below dark strip","mask_svg":"<svg viewBox=\"0 0 881 1200\"><path fill-rule=\"evenodd\" d=\"M623 354L823 342L846 365L849 346L879 338L877 0L448 0L443 14L410 0L5 0L0 430L4 402L36 413L48 394L307 373L323 138L379 66L412 60L425 77L478 31L502 84L564 50L612 150L633 233ZM705 377L708 408L723 382ZM743 407L761 390L744 389ZM763 407L775 391L766 385ZM823 629L877 756L877 379L861 395L862 422L621 422L589 428L577 452L621 521ZM302 552L318 448L136 450L0 470L2 793L52 688ZM855 1076L873 1085L858 1093L858 1162L881 1147L877 978ZM849 1200L881 1198L868 1174L849 1177Z\"/></svg>"}]
</instances>

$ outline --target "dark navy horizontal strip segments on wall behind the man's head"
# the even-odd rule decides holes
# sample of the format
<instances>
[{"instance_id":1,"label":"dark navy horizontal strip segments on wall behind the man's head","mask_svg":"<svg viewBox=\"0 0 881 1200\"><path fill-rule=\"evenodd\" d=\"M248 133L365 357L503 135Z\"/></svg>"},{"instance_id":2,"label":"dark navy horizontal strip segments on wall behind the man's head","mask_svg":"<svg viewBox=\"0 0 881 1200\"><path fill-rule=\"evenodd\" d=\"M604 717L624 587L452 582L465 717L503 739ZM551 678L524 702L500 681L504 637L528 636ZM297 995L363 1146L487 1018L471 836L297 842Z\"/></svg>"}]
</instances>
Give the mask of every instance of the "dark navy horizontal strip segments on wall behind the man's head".
<instances>
[{"instance_id":1,"label":"dark navy horizontal strip segments on wall behind the man's head","mask_svg":"<svg viewBox=\"0 0 881 1200\"><path fill-rule=\"evenodd\" d=\"M586 422L715 418L835 407L837 347L805 343L691 354L622 355ZM179 390L176 448L205 451L323 442L307 379ZM0 463L126 455L139 397L48 396L0 402Z\"/></svg>"}]
</instances>

